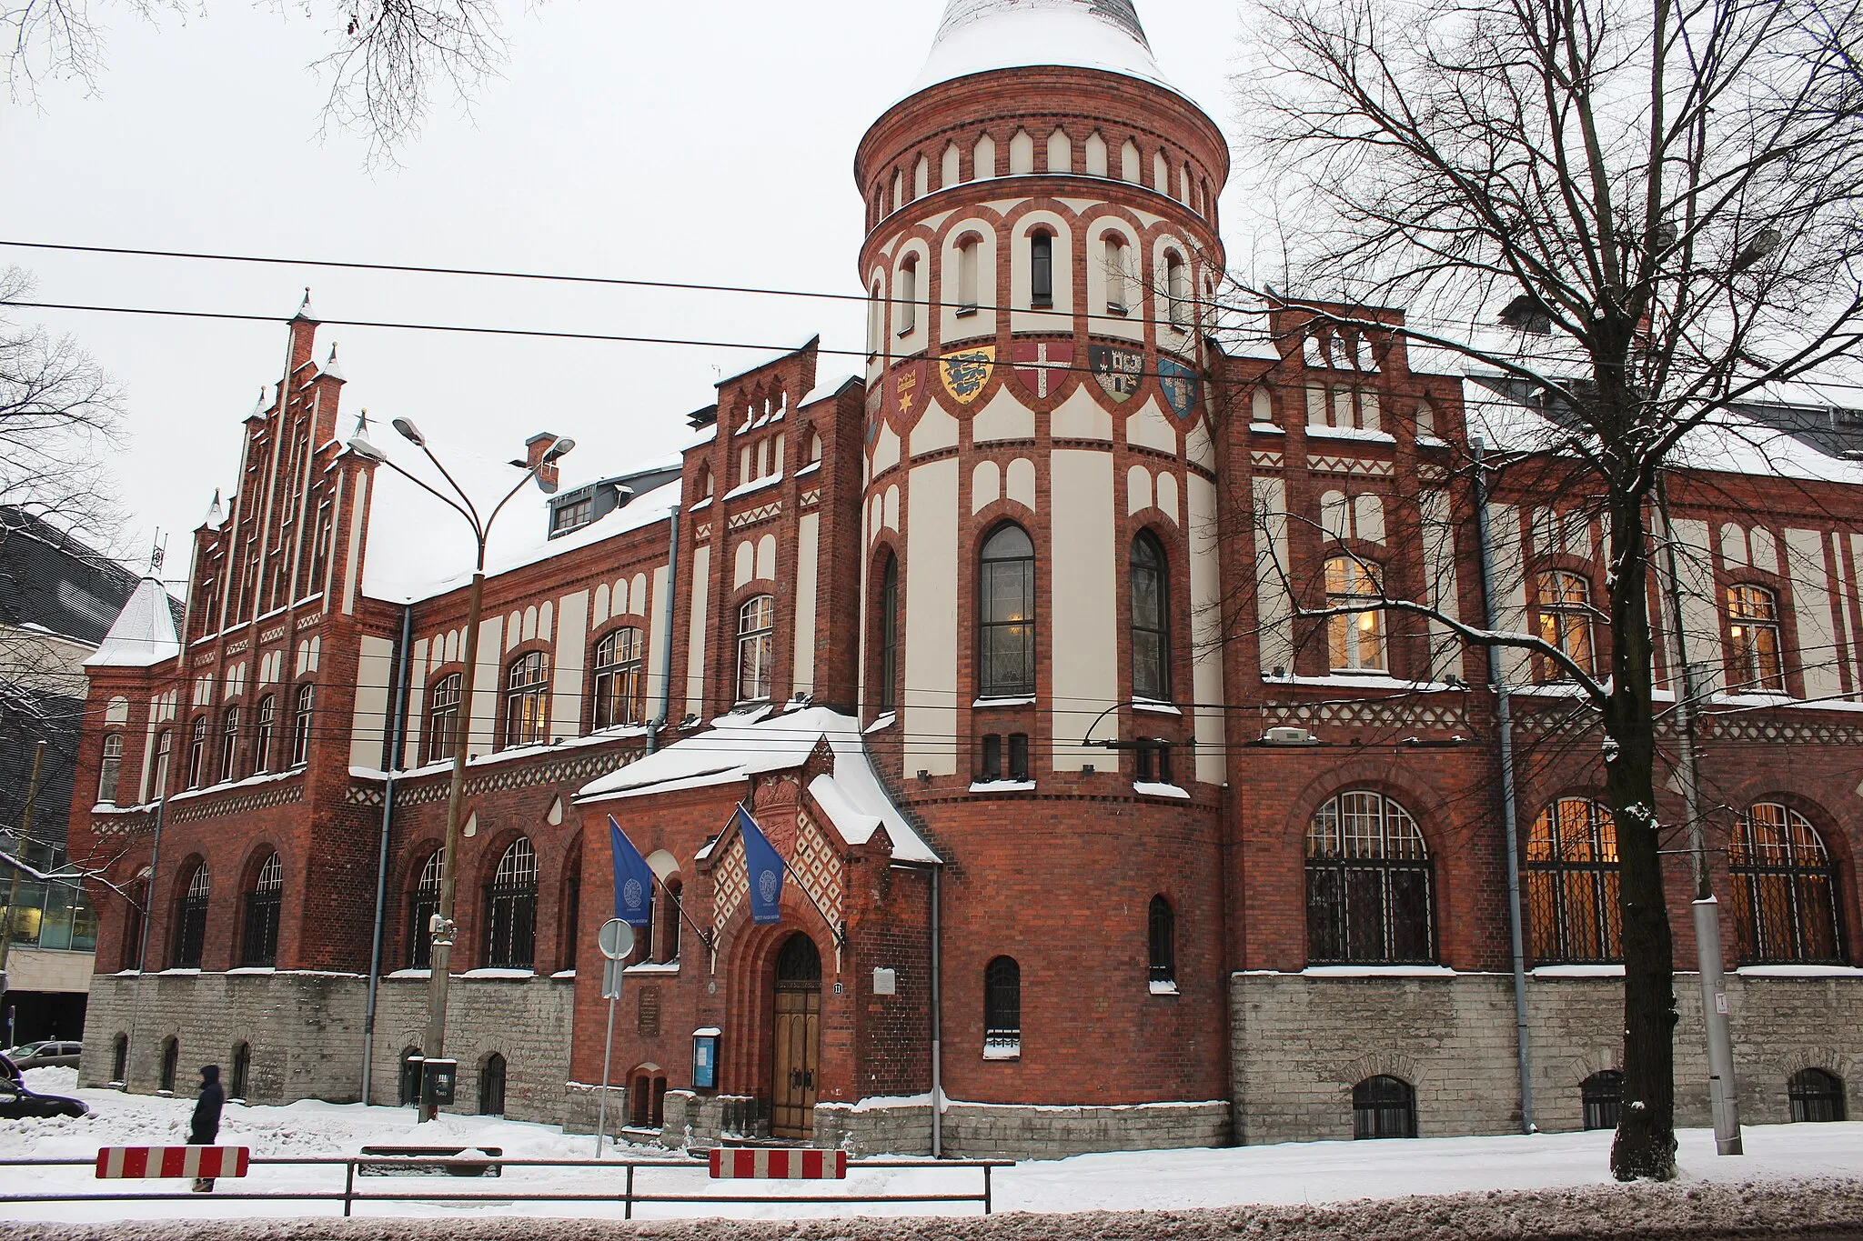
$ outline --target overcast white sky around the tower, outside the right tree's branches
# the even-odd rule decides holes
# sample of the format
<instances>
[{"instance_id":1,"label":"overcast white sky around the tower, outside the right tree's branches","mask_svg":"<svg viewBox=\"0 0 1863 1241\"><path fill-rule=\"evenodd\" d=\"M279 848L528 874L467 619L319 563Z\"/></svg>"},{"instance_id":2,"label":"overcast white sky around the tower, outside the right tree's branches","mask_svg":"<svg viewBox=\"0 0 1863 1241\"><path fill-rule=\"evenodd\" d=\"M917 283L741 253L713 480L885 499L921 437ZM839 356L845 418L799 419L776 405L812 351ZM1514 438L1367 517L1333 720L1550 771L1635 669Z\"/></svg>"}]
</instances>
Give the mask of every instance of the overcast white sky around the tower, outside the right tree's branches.
<instances>
[{"instance_id":1,"label":"overcast white sky around the tower, outside the right tree's branches","mask_svg":"<svg viewBox=\"0 0 1863 1241\"><path fill-rule=\"evenodd\" d=\"M127 4L93 6L127 9ZM285 6L289 7L289 6ZM943 0L550 0L510 4L512 56L471 113L449 108L401 167L317 136L300 17L212 0L186 24L119 15L95 95L0 104L0 238L859 292L853 151L918 73ZM1164 71L1230 134L1237 0L1140 0ZM1241 220L1230 186L1226 218ZM1237 259L1230 238L1231 260ZM326 318L520 326L859 348L851 303L371 275L0 247L39 300ZM190 532L229 487L238 426L278 380L283 327L47 313L129 394L116 460L125 545ZM436 445L514 456L579 441L570 478L619 473L687 437L712 383L755 354L324 327L341 342L345 426L414 417ZM857 359L823 359L823 378ZM468 553L464 547L460 554Z\"/></svg>"}]
</instances>

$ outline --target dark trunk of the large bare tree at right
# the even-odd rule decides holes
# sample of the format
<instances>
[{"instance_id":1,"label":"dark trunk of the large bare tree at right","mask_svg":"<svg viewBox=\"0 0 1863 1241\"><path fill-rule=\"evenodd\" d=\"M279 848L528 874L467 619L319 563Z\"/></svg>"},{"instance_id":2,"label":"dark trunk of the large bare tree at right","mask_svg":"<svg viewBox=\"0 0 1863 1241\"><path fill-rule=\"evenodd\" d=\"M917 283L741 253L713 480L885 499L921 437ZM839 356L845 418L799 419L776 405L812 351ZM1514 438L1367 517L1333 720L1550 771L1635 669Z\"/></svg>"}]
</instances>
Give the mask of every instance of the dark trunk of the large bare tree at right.
<instances>
[{"instance_id":1,"label":"dark trunk of the large bare tree at right","mask_svg":"<svg viewBox=\"0 0 1863 1241\"><path fill-rule=\"evenodd\" d=\"M1649 536L1643 497L1611 497L1611 694L1606 791L1617 821L1625 951L1623 1111L1611 1142L1621 1181L1675 1178L1675 951L1662 889L1656 729L1651 701Z\"/></svg>"}]
</instances>

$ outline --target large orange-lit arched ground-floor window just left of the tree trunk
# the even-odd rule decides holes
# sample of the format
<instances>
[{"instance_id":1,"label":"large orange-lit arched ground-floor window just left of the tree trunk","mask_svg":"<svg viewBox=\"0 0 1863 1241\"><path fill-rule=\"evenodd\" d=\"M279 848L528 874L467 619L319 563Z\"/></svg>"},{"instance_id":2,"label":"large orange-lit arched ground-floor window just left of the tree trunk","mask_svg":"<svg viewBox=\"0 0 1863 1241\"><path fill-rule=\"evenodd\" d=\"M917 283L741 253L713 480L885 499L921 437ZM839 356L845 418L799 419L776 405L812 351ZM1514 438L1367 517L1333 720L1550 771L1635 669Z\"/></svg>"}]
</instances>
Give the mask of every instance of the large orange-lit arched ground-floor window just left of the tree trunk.
<instances>
[{"instance_id":1,"label":"large orange-lit arched ground-floor window just left of the tree trunk","mask_svg":"<svg viewBox=\"0 0 1863 1241\"><path fill-rule=\"evenodd\" d=\"M1541 966L1619 962L1617 824L1580 796L1539 813L1526 841L1526 914Z\"/></svg>"}]
</instances>

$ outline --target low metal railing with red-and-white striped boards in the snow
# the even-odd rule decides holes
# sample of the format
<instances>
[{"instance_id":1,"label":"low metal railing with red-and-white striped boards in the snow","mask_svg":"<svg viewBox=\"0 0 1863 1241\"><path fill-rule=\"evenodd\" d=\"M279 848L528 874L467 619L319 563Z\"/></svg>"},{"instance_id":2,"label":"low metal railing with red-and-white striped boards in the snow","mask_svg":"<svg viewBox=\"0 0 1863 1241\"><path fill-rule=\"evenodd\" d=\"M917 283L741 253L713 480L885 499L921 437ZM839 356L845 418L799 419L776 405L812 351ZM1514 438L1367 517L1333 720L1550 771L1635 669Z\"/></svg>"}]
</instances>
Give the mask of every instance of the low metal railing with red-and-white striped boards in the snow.
<instances>
[{"instance_id":1,"label":"low metal railing with red-and-white striped boards in the snow","mask_svg":"<svg viewBox=\"0 0 1863 1241\"><path fill-rule=\"evenodd\" d=\"M706 1154L706 1152L699 1152ZM93 1168L95 1159L0 1159L0 1168ZM0 1194L0 1204L6 1206L32 1206L32 1204L56 1204L56 1202L190 1202L196 1208L211 1206L214 1202L328 1202L332 1206L341 1204L343 1215L354 1215L358 1206L369 1204L497 1204L497 1206L527 1206L538 1202L583 1202L583 1204L604 1204L620 1206L622 1219L633 1219L635 1204L676 1204L676 1206L730 1206L730 1204L797 1204L797 1206L881 1206L881 1204L965 1204L974 1202L984 1208L984 1215L991 1213L993 1208L993 1183L991 1172L995 1168L1015 1167L1010 1159L861 1159L850 1161L848 1172L879 1170L879 1168L911 1168L911 1170L956 1170L956 1168L978 1168L984 1174L984 1183L978 1193L898 1193L898 1194L861 1194L861 1193L842 1193L842 1194L745 1194L745 1193L643 1193L635 1187L635 1174L641 1170L673 1170L673 1172L695 1172L710 1176L710 1168L699 1159L505 1159L505 1157L479 1157L479 1155L421 1155L421 1157L393 1157L393 1155L328 1155L313 1159L252 1159L252 1176L242 1180L220 1180L214 1193L130 1193L130 1191L89 1191L89 1193L39 1193L39 1194ZM358 1168L367 1167L367 1172L358 1174ZM455 1172L455 1168L581 1168L581 1170L602 1170L619 1172L624 1176L620 1191L604 1189L602 1193L572 1193L572 1191L548 1191L548 1193L509 1193L499 1189L497 1193L414 1193L402 1191L399 1187L384 1187L376 1191L367 1181L382 1176L434 1176L434 1174L456 1174L468 1176L469 1172ZM330 1168L332 1185L328 1189L291 1189L276 1193L257 1193L240 1189L227 1189L231 1185L242 1185L246 1180L257 1180L259 1168ZM341 1170L343 1183L341 1189L335 1185L335 1174ZM9 1178L11 1180L11 1178ZM363 1185L358 1185L358 1180ZM123 1183L123 1181L114 1181ZM147 1181L158 1185L160 1181ZM714 1183L714 1181L706 1181ZM728 1185L741 1185L743 1181L725 1181ZM762 1185L775 1185L779 1181L758 1181ZM840 1183L840 1181L781 1181L794 1185L822 1185L822 1183ZM391 1211L389 1211L391 1213Z\"/></svg>"}]
</instances>

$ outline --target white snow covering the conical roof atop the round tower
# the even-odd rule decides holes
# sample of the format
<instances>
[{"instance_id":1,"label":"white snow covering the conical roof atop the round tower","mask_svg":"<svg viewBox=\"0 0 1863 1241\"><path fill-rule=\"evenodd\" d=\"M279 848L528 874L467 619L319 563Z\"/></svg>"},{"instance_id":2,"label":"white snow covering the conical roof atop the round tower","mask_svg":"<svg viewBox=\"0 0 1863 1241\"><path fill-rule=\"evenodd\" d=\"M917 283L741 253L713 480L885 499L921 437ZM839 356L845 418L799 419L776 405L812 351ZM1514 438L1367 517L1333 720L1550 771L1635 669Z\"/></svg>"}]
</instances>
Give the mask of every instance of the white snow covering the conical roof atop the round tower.
<instances>
[{"instance_id":1,"label":"white snow covering the conical roof atop the round tower","mask_svg":"<svg viewBox=\"0 0 1863 1241\"><path fill-rule=\"evenodd\" d=\"M950 0L907 95L991 69L1105 69L1176 91L1131 0Z\"/></svg>"}]
</instances>

